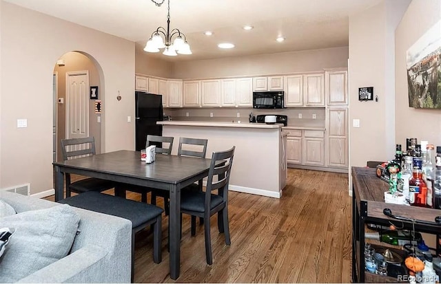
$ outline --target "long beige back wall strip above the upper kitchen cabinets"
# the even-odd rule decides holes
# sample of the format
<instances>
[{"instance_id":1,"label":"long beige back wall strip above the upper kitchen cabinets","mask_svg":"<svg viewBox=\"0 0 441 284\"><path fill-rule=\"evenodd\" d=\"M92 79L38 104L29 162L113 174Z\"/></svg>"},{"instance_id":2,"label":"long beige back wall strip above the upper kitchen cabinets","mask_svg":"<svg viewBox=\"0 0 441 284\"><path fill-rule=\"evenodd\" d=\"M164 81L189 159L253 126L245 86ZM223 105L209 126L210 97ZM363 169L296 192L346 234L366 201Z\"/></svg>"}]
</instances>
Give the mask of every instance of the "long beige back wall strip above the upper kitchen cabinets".
<instances>
[{"instance_id":1,"label":"long beige back wall strip above the upper kitchen cabinets","mask_svg":"<svg viewBox=\"0 0 441 284\"><path fill-rule=\"evenodd\" d=\"M178 61L173 65L172 76L189 79L321 71L325 68L347 67L347 58L348 47L335 47L235 58Z\"/></svg>"}]
</instances>

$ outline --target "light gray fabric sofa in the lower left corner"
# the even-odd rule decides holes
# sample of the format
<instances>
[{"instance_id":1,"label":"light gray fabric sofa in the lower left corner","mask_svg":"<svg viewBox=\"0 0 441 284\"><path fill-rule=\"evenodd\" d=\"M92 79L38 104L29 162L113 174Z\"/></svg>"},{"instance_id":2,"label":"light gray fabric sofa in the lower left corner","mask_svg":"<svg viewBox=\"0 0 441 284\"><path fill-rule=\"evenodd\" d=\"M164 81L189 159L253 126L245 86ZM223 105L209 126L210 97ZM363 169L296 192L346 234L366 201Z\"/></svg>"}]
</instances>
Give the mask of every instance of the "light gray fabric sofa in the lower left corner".
<instances>
[{"instance_id":1,"label":"light gray fabric sofa in the lower left corner","mask_svg":"<svg viewBox=\"0 0 441 284\"><path fill-rule=\"evenodd\" d=\"M8 192L1 192L0 199L17 213L60 206ZM74 210L80 216L80 233L74 238L70 254L19 283L130 283L132 223L89 210Z\"/></svg>"}]
</instances>

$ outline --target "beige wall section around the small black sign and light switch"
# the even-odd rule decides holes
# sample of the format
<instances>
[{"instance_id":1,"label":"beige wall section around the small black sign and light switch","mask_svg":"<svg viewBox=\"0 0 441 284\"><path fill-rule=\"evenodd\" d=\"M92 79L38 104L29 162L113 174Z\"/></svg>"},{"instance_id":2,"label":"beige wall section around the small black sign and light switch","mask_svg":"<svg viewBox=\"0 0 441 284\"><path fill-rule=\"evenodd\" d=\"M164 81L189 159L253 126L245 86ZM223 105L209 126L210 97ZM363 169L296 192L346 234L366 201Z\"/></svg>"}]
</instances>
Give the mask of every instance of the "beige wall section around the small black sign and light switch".
<instances>
[{"instance_id":1,"label":"beige wall section around the small black sign and light switch","mask_svg":"<svg viewBox=\"0 0 441 284\"><path fill-rule=\"evenodd\" d=\"M395 152L394 30L408 4L387 0L349 17L350 166L388 160ZM378 102L360 102L359 87L373 87ZM353 119L360 128L352 127Z\"/></svg>"}]
</instances>

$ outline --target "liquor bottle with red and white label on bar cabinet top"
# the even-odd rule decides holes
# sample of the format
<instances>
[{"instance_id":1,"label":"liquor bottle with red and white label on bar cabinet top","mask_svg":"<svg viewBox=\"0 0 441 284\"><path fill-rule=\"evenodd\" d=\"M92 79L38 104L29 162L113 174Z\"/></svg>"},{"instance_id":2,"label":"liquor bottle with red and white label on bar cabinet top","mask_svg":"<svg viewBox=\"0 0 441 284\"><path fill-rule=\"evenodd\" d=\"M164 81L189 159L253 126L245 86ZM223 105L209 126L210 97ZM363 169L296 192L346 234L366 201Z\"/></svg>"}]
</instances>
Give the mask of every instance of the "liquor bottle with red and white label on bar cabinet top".
<instances>
[{"instance_id":1,"label":"liquor bottle with red and white label on bar cabinet top","mask_svg":"<svg viewBox=\"0 0 441 284\"><path fill-rule=\"evenodd\" d=\"M413 157L413 173L409 180L409 200L414 206L426 207L427 186L422 179L421 151L416 147L416 156Z\"/></svg>"}]
</instances>

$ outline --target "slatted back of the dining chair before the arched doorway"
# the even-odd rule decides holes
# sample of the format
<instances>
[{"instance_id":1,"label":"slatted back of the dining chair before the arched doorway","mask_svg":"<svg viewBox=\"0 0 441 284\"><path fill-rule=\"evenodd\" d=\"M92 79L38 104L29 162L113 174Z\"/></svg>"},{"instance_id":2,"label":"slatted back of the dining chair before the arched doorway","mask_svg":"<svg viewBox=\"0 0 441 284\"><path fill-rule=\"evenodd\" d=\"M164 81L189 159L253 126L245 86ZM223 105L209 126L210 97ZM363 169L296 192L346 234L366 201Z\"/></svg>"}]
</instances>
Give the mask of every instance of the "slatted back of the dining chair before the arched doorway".
<instances>
[{"instance_id":1,"label":"slatted back of the dining chair before the arched doorway","mask_svg":"<svg viewBox=\"0 0 441 284\"><path fill-rule=\"evenodd\" d=\"M88 155L95 155L95 138L72 138L61 140L63 160L75 159Z\"/></svg>"}]
</instances>

